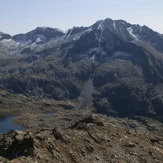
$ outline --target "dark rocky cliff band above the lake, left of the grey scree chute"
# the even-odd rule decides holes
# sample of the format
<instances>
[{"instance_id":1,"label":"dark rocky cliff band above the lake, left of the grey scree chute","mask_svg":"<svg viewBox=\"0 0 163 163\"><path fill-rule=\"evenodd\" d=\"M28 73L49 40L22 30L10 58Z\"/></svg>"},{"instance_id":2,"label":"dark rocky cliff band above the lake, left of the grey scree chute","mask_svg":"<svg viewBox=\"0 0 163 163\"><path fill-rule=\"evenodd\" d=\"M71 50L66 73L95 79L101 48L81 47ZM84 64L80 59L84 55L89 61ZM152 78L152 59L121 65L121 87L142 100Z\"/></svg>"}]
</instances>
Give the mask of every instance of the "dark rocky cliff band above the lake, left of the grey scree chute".
<instances>
[{"instance_id":1,"label":"dark rocky cliff band above the lake, left of the grey scree chute","mask_svg":"<svg viewBox=\"0 0 163 163\"><path fill-rule=\"evenodd\" d=\"M7 89L16 94L26 96L49 97L56 100L74 99L79 96L80 90L73 83L58 80L37 79L37 78L10 78ZM66 84L64 84L66 82ZM67 90L65 92L65 90Z\"/></svg>"}]
</instances>

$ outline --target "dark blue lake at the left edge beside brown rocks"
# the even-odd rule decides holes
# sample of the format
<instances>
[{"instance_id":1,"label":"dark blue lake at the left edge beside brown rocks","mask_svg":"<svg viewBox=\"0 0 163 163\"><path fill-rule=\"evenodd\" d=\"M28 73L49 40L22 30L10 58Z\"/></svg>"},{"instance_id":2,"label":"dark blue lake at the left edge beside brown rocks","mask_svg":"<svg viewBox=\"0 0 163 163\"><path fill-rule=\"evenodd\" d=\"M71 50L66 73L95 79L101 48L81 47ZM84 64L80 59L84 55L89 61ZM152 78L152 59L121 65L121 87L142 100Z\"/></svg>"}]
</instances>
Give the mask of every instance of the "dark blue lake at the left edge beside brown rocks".
<instances>
[{"instance_id":1,"label":"dark blue lake at the left edge beside brown rocks","mask_svg":"<svg viewBox=\"0 0 163 163\"><path fill-rule=\"evenodd\" d=\"M16 116L8 115L8 116L0 116L0 133L6 133L10 130L25 130L23 126L17 125L13 123L13 119Z\"/></svg>"}]
</instances>

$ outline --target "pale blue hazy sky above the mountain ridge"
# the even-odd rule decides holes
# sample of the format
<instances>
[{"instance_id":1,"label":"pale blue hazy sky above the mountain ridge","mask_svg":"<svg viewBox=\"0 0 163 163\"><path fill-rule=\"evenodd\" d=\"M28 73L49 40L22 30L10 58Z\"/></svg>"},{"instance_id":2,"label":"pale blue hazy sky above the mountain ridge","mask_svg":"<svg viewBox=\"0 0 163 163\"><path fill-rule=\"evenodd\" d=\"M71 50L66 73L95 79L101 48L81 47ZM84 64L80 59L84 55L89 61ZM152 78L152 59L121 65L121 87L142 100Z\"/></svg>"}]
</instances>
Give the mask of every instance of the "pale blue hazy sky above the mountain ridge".
<instances>
[{"instance_id":1,"label":"pale blue hazy sky above the mountain ridge","mask_svg":"<svg viewBox=\"0 0 163 163\"><path fill-rule=\"evenodd\" d=\"M1 0L0 7L0 31L11 35L38 26L90 26L105 18L147 25L163 34L163 0Z\"/></svg>"}]
</instances>

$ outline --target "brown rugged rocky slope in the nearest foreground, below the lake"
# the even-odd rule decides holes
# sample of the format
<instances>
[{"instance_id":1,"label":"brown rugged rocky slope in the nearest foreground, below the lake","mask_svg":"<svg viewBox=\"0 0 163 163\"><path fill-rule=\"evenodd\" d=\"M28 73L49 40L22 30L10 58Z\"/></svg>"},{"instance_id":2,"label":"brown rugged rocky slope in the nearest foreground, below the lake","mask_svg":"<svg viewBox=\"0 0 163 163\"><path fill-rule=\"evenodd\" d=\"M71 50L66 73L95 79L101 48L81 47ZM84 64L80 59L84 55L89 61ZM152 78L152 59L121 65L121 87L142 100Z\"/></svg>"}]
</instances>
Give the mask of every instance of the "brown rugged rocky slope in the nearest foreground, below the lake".
<instances>
[{"instance_id":1,"label":"brown rugged rocky slope in the nearest foreground, below the lake","mask_svg":"<svg viewBox=\"0 0 163 163\"><path fill-rule=\"evenodd\" d=\"M66 123L52 123L50 127L13 130L0 135L0 161L161 163L162 127L159 121L145 117L93 114Z\"/></svg>"}]
</instances>

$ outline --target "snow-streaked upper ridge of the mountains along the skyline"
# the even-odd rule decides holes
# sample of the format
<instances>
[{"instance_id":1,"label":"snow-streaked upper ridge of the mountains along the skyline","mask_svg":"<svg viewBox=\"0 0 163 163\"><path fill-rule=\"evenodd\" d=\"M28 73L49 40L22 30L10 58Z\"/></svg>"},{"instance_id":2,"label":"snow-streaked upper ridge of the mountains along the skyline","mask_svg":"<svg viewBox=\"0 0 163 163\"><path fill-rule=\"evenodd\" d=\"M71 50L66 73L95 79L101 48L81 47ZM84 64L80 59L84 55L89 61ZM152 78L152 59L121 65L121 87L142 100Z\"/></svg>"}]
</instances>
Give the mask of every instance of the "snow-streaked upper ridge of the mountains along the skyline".
<instances>
[{"instance_id":1,"label":"snow-streaked upper ridge of the mountains along the skyline","mask_svg":"<svg viewBox=\"0 0 163 163\"><path fill-rule=\"evenodd\" d=\"M78 39L85 32L89 33L91 30L94 29L108 29L110 32L121 37L120 39L124 41L134 41L138 44L150 44L159 52L163 52L163 39L161 37L162 35L158 32L155 32L146 26L133 25L127 23L124 20L112 20L110 18L99 20L89 27L73 27L72 29L69 29L67 33L64 33L56 28L37 27L36 29L29 31L25 34L17 34L10 37L8 36L7 39L1 40L0 45L5 50L9 46L12 46L11 49L8 49L8 52L12 51L14 54L16 54L21 53L23 49L29 48L29 46L31 46L31 48L37 48L37 44L48 45L50 44L50 42L58 39L68 40L70 39L70 36L73 37L73 40L75 40ZM15 49L19 49L19 51L15 51Z\"/></svg>"}]
</instances>

